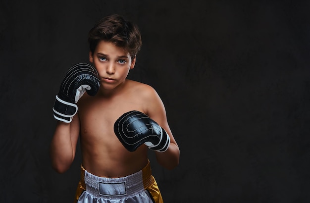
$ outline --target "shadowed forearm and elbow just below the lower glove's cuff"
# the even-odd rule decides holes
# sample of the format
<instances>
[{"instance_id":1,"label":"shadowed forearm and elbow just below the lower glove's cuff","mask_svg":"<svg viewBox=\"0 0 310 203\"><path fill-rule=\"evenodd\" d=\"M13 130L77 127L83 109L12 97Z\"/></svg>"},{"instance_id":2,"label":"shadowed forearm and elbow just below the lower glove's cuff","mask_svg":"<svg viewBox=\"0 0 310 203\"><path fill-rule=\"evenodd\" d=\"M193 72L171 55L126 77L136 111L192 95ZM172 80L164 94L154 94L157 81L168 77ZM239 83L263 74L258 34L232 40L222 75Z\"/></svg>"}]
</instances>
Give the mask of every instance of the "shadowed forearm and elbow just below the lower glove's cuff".
<instances>
[{"instance_id":1,"label":"shadowed forearm and elbow just below the lower glove's cuff","mask_svg":"<svg viewBox=\"0 0 310 203\"><path fill-rule=\"evenodd\" d=\"M158 163L166 169L172 170L179 165L180 150L179 147L170 143L169 148L165 152L156 152Z\"/></svg>"}]
</instances>

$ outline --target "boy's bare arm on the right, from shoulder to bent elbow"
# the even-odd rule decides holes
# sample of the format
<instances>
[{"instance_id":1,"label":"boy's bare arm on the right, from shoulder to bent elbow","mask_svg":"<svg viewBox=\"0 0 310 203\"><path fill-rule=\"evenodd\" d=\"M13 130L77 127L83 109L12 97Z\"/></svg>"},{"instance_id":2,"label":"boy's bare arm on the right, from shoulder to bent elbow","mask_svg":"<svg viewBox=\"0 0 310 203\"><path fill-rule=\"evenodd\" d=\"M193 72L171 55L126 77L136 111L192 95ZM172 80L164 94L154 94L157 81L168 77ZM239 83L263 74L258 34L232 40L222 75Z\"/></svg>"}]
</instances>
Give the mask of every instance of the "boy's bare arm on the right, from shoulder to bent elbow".
<instances>
[{"instance_id":1,"label":"boy's bare arm on the right, from shoulder to bent elbow","mask_svg":"<svg viewBox=\"0 0 310 203\"><path fill-rule=\"evenodd\" d=\"M170 127L168 125L166 110L163 102L153 88L151 88L150 95L148 96L146 106L146 113L153 120L155 120L163 129L166 130L170 137L170 146L165 152L156 152L156 159L160 165L171 170L179 164L180 150L177 142L175 141Z\"/></svg>"}]
</instances>

